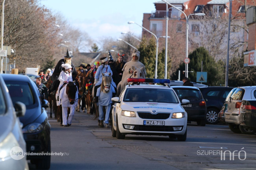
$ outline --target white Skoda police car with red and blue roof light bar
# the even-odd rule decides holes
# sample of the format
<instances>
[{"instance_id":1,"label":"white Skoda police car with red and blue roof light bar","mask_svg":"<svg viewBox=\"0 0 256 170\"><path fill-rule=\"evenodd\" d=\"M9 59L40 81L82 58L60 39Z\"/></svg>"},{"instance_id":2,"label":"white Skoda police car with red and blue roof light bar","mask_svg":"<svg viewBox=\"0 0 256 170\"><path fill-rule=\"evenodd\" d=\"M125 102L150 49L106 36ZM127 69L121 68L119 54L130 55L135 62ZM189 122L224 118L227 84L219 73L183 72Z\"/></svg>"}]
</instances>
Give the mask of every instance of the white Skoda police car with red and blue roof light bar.
<instances>
[{"instance_id":1,"label":"white Skoda police car with red and blue roof light bar","mask_svg":"<svg viewBox=\"0 0 256 170\"><path fill-rule=\"evenodd\" d=\"M112 136L124 139L126 134L159 135L185 141L187 113L169 79L128 79L130 82L119 97L112 98ZM131 85L131 82L133 85ZM134 83L136 83L134 85ZM140 83L160 83L142 85Z\"/></svg>"}]
</instances>

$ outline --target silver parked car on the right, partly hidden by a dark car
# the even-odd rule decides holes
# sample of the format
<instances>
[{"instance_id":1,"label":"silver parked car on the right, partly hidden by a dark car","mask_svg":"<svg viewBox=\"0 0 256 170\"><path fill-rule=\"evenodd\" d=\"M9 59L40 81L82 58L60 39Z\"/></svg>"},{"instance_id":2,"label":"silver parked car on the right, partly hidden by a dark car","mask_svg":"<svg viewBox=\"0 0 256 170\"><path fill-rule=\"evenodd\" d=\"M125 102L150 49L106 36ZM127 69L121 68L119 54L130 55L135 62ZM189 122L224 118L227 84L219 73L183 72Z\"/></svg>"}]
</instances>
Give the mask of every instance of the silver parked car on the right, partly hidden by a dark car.
<instances>
[{"instance_id":1,"label":"silver parked car on the right, partly hidden by a dark car","mask_svg":"<svg viewBox=\"0 0 256 170\"><path fill-rule=\"evenodd\" d=\"M240 107L242 100L256 100L256 86L238 87L227 102L228 108L225 112L225 121L228 123L229 129L234 133L253 134L255 131L245 129L240 126Z\"/></svg>"}]
</instances>

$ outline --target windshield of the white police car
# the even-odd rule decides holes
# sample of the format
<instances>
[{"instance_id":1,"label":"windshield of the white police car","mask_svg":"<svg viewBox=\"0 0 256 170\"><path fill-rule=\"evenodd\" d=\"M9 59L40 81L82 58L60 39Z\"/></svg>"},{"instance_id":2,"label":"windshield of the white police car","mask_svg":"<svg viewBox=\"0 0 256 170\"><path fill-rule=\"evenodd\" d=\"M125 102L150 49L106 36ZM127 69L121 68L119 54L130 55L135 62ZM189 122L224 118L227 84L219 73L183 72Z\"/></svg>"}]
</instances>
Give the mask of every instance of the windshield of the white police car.
<instances>
[{"instance_id":1,"label":"windshield of the white police car","mask_svg":"<svg viewBox=\"0 0 256 170\"><path fill-rule=\"evenodd\" d=\"M124 102L158 102L179 103L175 93L171 89L157 88L130 88L124 96Z\"/></svg>"}]
</instances>

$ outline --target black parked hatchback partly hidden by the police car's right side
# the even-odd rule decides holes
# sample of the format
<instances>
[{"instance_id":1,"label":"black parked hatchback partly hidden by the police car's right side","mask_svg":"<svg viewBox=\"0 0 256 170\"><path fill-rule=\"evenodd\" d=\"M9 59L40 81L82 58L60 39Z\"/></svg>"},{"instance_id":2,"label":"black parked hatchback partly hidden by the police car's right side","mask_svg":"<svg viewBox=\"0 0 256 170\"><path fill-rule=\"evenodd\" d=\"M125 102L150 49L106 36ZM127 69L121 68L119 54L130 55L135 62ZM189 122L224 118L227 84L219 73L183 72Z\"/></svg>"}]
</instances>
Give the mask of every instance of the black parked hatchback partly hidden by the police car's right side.
<instances>
[{"instance_id":1,"label":"black parked hatchback partly hidden by the police car's right side","mask_svg":"<svg viewBox=\"0 0 256 170\"><path fill-rule=\"evenodd\" d=\"M172 86L180 101L189 100L189 104L183 105L187 112L188 121L196 121L198 125L205 126L206 103L197 87Z\"/></svg>"}]
</instances>

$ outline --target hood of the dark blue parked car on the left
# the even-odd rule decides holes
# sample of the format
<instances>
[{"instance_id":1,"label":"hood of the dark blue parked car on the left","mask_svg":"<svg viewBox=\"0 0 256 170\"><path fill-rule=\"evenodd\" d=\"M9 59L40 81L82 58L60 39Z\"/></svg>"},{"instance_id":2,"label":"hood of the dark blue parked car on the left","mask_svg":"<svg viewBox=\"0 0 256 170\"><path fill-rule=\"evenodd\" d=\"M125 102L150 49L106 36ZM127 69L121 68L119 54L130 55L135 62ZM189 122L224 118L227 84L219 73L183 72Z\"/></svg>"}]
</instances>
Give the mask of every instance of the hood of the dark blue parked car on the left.
<instances>
[{"instance_id":1,"label":"hood of the dark blue parked car on the left","mask_svg":"<svg viewBox=\"0 0 256 170\"><path fill-rule=\"evenodd\" d=\"M19 120L20 122L23 123L23 127L28 125L29 123L34 122L42 113L42 110L40 107L34 107L31 109L27 109L25 116L20 117Z\"/></svg>"}]
</instances>

